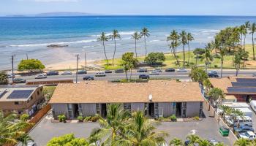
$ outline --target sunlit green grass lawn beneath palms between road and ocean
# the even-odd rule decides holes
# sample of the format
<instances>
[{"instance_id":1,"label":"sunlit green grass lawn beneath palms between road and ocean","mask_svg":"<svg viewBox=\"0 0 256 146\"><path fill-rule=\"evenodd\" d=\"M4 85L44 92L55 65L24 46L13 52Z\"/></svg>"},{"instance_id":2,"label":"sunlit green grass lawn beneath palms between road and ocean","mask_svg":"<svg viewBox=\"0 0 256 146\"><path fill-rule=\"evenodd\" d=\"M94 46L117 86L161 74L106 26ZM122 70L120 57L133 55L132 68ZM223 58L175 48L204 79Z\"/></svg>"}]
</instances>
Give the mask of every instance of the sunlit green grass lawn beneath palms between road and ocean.
<instances>
[{"instance_id":1,"label":"sunlit green grass lawn beneath palms between road and ocean","mask_svg":"<svg viewBox=\"0 0 256 146\"><path fill-rule=\"evenodd\" d=\"M256 47L255 47L256 50ZM245 68L246 69L256 69L256 61L253 61L252 59L252 45L246 45L246 51L249 52L249 59L248 61L245 62ZM182 52L177 53L178 55L178 60L180 61L180 65L178 66L176 64L176 59L174 58L173 54L171 53L165 53L165 57L166 60L163 62L164 64L164 68L168 68L168 67L172 67L172 68L180 68L183 65L183 55ZM214 55L214 52L213 52ZM185 61L188 61L188 56L189 56L189 52L186 52L186 57L185 57ZM144 60L144 56L140 56L138 57L139 61L143 61ZM195 64L196 58L195 55L192 51L190 51L190 59L189 59L189 64ZM109 62L112 63L112 60L110 60ZM121 58L116 58L114 60L114 66L112 66L112 64L110 64L109 66L107 65L107 61L102 60L99 61L99 65L105 66L105 69L121 69L123 68L121 66ZM186 63L187 64L187 63ZM192 66L192 64L190 64L190 66ZM204 66L204 61L200 61L200 58L197 61L197 65L198 66ZM214 58L214 61L211 62L211 65L209 66L209 68L215 68L215 69L219 69L220 68L220 59L219 58ZM190 66L187 66L187 68L189 68ZM242 67L242 65L241 65ZM225 59L224 59L224 64L223 64L223 68L224 69L234 69L233 66L233 55L225 55Z\"/></svg>"}]
</instances>

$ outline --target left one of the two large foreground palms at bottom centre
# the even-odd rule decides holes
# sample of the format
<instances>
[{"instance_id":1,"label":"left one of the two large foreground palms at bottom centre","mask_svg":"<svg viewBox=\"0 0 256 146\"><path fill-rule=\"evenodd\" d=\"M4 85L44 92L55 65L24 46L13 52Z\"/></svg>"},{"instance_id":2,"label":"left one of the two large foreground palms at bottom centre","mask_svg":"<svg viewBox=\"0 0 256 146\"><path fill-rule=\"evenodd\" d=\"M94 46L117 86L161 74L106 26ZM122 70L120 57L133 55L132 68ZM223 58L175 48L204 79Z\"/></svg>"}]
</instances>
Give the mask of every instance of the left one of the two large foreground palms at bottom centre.
<instances>
[{"instance_id":1,"label":"left one of the two large foreground palms at bottom centre","mask_svg":"<svg viewBox=\"0 0 256 146\"><path fill-rule=\"evenodd\" d=\"M121 104L108 104L106 120L99 117L99 126L91 131L89 140L91 142L103 140L103 145L113 145L118 132L124 127L124 119L128 117L127 112L121 110Z\"/></svg>"}]
</instances>

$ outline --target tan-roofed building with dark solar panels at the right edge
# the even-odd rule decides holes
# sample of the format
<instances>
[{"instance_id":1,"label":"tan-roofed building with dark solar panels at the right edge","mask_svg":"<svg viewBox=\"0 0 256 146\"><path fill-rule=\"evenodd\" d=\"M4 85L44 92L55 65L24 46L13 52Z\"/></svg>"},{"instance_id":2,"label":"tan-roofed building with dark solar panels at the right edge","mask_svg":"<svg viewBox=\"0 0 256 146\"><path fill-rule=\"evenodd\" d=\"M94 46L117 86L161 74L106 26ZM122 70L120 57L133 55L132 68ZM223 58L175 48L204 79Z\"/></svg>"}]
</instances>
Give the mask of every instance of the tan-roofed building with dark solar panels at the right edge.
<instances>
[{"instance_id":1,"label":"tan-roofed building with dark solar panels at the right edge","mask_svg":"<svg viewBox=\"0 0 256 146\"><path fill-rule=\"evenodd\" d=\"M214 88L221 88L229 101L256 100L256 78L254 77L225 77L211 78Z\"/></svg>"}]
</instances>

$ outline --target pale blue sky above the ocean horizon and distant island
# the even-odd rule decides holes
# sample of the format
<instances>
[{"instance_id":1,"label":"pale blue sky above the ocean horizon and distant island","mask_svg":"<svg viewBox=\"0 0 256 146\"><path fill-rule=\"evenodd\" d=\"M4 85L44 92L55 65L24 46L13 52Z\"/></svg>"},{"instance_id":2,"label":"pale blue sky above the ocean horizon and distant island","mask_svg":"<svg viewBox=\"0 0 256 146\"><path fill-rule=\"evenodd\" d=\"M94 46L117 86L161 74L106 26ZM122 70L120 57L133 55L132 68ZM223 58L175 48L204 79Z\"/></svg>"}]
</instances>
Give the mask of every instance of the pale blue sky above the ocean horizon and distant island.
<instances>
[{"instance_id":1,"label":"pale blue sky above the ocean horizon and distant island","mask_svg":"<svg viewBox=\"0 0 256 146\"><path fill-rule=\"evenodd\" d=\"M0 0L0 15L34 15L45 12L256 16L256 0Z\"/></svg>"}]
</instances>

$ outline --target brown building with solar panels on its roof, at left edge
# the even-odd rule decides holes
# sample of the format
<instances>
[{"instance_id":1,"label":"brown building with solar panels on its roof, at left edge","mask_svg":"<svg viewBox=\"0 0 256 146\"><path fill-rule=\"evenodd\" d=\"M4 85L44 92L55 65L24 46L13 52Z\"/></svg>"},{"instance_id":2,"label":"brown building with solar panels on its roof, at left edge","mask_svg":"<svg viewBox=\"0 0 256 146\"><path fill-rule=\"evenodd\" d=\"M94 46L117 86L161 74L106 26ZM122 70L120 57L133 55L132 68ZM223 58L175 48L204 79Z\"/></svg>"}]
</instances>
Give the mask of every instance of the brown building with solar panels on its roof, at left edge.
<instances>
[{"instance_id":1,"label":"brown building with solar panels on its roof, at left edge","mask_svg":"<svg viewBox=\"0 0 256 146\"><path fill-rule=\"evenodd\" d=\"M0 110L33 115L45 98L39 85L0 85Z\"/></svg>"}]
</instances>

